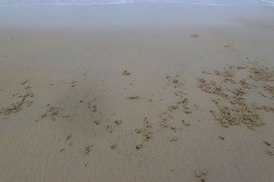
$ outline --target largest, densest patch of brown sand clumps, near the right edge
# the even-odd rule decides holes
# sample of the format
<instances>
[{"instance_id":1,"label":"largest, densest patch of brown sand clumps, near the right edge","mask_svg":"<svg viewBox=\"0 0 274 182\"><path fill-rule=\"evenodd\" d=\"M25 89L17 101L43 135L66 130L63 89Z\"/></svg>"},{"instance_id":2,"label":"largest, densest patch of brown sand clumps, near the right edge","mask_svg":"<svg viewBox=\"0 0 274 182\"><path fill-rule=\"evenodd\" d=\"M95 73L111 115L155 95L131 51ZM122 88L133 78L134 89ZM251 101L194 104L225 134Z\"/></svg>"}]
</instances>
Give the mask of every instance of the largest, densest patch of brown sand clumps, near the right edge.
<instances>
[{"instance_id":1,"label":"largest, densest patch of brown sand clumps, near the right edge","mask_svg":"<svg viewBox=\"0 0 274 182\"><path fill-rule=\"evenodd\" d=\"M223 125L223 127L229 127L229 125L240 125L245 124L251 130L255 127L260 127L264 124L260 115L256 110L264 109L264 111L271 111L270 106L256 106L247 100L246 89L251 89L253 82L269 82L273 81L273 72L269 71L269 68L262 66L258 67L229 67L229 71L219 72L215 71L214 74L218 76L215 81L206 80L204 78L199 79L198 87L201 91L215 95L216 100L212 102L217 106L218 112L210 110L214 115L214 118ZM232 70L233 69L233 70ZM238 82L234 81L234 73L238 72L248 72L249 77L241 79ZM217 82L225 78L223 81ZM270 89L271 87L265 87L265 89Z\"/></svg>"}]
</instances>

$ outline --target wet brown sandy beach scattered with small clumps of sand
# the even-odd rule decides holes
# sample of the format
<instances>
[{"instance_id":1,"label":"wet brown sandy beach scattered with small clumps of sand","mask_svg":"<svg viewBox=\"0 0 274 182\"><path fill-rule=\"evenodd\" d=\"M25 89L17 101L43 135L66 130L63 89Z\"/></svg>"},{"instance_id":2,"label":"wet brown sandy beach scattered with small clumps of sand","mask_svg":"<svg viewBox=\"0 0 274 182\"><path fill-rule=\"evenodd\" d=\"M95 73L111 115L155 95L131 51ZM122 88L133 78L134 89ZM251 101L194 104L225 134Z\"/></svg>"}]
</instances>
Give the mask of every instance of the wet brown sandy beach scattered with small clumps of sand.
<instances>
[{"instance_id":1,"label":"wet brown sandy beach scattered with small clumps of sand","mask_svg":"<svg viewBox=\"0 0 274 182\"><path fill-rule=\"evenodd\" d=\"M273 181L268 17L2 24L0 181Z\"/></svg>"}]
</instances>

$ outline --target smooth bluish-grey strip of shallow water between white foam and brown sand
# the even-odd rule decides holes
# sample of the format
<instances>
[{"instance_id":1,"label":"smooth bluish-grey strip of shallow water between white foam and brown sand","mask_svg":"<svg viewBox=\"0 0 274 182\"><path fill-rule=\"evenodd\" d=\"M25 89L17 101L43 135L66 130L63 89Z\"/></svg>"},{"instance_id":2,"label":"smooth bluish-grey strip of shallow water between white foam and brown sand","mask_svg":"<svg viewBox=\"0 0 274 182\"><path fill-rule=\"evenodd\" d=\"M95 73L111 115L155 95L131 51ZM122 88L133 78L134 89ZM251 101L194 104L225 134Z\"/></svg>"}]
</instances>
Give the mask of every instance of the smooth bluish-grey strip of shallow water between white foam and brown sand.
<instances>
[{"instance_id":1,"label":"smooth bluish-grey strip of shallow water between white foam and brown sand","mask_svg":"<svg viewBox=\"0 0 274 182\"><path fill-rule=\"evenodd\" d=\"M0 7L0 28L60 29L85 27L108 29L112 27L176 25L240 27L245 20L269 19L269 22L266 22L267 25L273 22L271 18L274 17L274 7L247 7L174 3Z\"/></svg>"}]
</instances>

